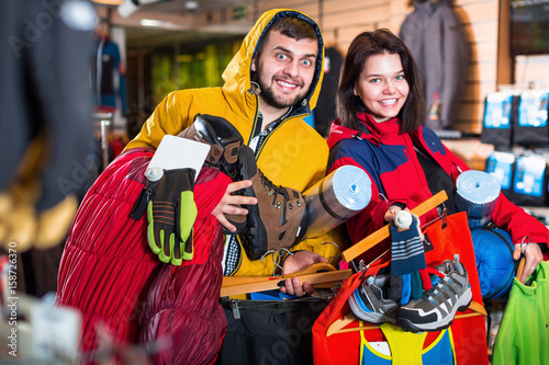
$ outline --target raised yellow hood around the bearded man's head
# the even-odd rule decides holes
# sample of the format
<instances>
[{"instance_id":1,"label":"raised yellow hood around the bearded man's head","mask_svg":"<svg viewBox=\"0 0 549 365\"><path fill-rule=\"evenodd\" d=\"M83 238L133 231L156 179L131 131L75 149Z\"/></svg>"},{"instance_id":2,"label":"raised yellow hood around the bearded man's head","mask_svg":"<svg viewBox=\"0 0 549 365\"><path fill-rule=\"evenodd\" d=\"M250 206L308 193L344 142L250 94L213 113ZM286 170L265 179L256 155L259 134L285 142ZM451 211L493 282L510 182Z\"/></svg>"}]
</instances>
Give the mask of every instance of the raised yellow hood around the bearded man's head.
<instances>
[{"instance_id":1,"label":"raised yellow hood around the bearded man's head","mask_svg":"<svg viewBox=\"0 0 549 365\"><path fill-rule=\"evenodd\" d=\"M318 93L321 91L318 85L322 83L324 76L324 42L321 30L315 21L302 12L291 9L273 9L265 12L258 19L256 24L248 32L248 35L244 38L240 48L223 72L222 77L225 81L223 90L228 98L234 95L235 103L233 103L233 107L244 107L244 105L238 105L242 104L240 95L246 95L245 100L246 103L249 104L248 106L253 106L256 103L256 99L251 93L251 59L256 54L258 44L265 38L265 34L270 28L271 24L284 16L302 19L316 30L320 52L316 59L315 75L305 99L298 107L294 107L292 114L311 114L311 111L316 106Z\"/></svg>"}]
</instances>

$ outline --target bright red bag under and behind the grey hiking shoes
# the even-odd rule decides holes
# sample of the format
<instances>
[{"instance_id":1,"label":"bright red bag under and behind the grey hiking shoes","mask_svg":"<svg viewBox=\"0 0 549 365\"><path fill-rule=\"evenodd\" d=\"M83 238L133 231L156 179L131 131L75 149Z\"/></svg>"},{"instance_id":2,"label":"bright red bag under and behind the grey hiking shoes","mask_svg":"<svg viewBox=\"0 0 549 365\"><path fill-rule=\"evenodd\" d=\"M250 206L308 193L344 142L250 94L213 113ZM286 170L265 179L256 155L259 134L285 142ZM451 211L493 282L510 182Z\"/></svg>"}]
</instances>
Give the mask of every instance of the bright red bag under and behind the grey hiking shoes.
<instances>
[{"instance_id":1,"label":"bright red bag under and behind the grey hiking shoes","mask_svg":"<svg viewBox=\"0 0 549 365\"><path fill-rule=\"evenodd\" d=\"M453 260L453 255L458 253L469 273L473 301L477 301L478 309L483 311L479 275L466 213L458 213L437 220L426 228L425 233L434 246L434 249L425 254L427 265L434 266L444 260ZM349 313L347 299L360 285L361 278L376 274L380 267L370 269L363 276L362 273L352 275L344 283L329 306L318 316L313 326L313 358L315 364L359 364L360 333L365 335L367 341L386 341L379 328L368 330L365 328L365 330L339 332L326 337L329 326ZM466 313L474 315L470 309ZM359 326L359 321L355 320L345 329ZM369 327L372 326L369 324ZM483 316L456 319L450 329L457 364L488 365L486 330ZM438 334L438 331L428 332L424 342L425 346L432 343Z\"/></svg>"}]
</instances>

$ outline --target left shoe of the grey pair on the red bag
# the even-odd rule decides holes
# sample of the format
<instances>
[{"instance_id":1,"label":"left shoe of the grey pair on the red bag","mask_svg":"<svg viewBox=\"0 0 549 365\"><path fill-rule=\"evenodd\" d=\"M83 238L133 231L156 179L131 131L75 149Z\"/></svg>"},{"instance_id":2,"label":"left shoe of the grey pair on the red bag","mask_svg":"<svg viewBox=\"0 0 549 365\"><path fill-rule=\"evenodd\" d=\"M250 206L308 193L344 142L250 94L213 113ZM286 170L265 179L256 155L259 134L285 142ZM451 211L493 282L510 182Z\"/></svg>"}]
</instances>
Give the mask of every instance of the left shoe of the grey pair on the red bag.
<instances>
[{"instance_id":1,"label":"left shoe of the grey pair on the red bag","mask_svg":"<svg viewBox=\"0 0 549 365\"><path fill-rule=\"evenodd\" d=\"M368 276L352 292L347 303L355 317L376 324L394 324L399 305L394 300L385 299L381 288L388 277Z\"/></svg>"}]
</instances>

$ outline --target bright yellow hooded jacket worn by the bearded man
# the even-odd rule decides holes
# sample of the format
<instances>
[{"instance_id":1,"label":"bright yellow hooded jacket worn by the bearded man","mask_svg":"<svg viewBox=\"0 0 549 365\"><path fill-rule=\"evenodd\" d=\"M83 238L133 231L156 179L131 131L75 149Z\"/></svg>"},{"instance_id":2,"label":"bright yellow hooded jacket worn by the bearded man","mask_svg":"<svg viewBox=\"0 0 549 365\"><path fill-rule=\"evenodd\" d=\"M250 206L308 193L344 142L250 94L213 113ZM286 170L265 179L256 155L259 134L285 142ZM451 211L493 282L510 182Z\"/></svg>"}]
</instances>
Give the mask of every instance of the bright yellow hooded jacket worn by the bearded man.
<instances>
[{"instance_id":1,"label":"bright yellow hooded jacket worn by the bearded man","mask_svg":"<svg viewBox=\"0 0 549 365\"><path fill-rule=\"evenodd\" d=\"M144 124L141 133L126 148L157 148L165 135L177 135L189 127L198 113L219 115L231 122L240 133L246 145L254 136L257 125L258 96L251 92L250 66L255 49L264 38L270 24L282 16L300 18L311 23L318 34L321 57L316 60L316 73L312 87L301 105L277 126L257 151L258 168L274 184L306 191L325 176L328 147L324 138L307 125L303 117L311 114L318 99L324 75L324 44L316 23L305 14L294 10L274 9L267 11L256 22L244 39L240 49L223 72L225 84L221 88L188 89L173 91L164 99ZM309 250L326 259L338 255L333 244L322 244L337 239L335 233L314 240L301 241L295 250ZM272 275L274 264L271 258L250 261L240 247L236 270L232 275Z\"/></svg>"}]
</instances>

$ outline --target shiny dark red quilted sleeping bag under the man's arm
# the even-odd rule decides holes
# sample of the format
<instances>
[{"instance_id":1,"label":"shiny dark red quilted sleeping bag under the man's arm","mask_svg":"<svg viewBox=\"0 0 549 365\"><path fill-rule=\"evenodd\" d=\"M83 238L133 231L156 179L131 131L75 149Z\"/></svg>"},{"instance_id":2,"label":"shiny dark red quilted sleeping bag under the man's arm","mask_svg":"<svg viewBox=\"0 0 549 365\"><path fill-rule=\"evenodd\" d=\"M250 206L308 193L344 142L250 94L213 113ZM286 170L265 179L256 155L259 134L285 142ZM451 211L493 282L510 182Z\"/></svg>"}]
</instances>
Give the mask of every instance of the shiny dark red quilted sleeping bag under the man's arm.
<instances>
[{"instance_id":1,"label":"shiny dark red quilted sleeping bag under the man's arm","mask_svg":"<svg viewBox=\"0 0 549 365\"><path fill-rule=\"evenodd\" d=\"M130 216L144 187L144 171L153 155L150 149L135 148L117 157L86 194L70 228L59 265L56 300L81 312L80 350L88 362L98 360L98 351L105 345L98 337L100 326L108 329L115 341L136 343L139 317L156 320L155 310L166 305L156 304L155 296L161 296L171 285L164 278L173 266L161 263L150 251L146 215L138 220ZM202 327L193 326L191 331L195 339L210 341L190 341L183 344L187 347L175 350L212 352L213 358L226 324L217 304L222 281L219 252L223 250L223 237L221 225L211 212L229 183L228 176L211 168L203 168L199 174L194 186L198 207L193 226L194 258L178 270L181 272L178 281L187 284L177 286L181 292L171 293L189 300L200 298L189 310L208 317L208 321L203 321ZM157 277L159 273L161 276ZM173 311L172 323L184 315ZM144 324L147 330L158 330L152 323ZM180 323L182 331L186 322ZM146 333L143 332L143 339L155 338L154 332Z\"/></svg>"}]
</instances>

